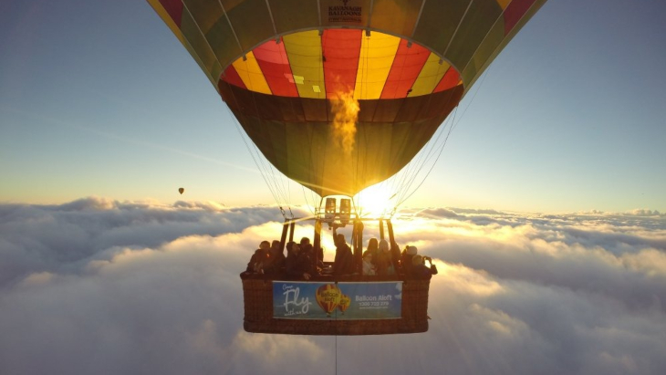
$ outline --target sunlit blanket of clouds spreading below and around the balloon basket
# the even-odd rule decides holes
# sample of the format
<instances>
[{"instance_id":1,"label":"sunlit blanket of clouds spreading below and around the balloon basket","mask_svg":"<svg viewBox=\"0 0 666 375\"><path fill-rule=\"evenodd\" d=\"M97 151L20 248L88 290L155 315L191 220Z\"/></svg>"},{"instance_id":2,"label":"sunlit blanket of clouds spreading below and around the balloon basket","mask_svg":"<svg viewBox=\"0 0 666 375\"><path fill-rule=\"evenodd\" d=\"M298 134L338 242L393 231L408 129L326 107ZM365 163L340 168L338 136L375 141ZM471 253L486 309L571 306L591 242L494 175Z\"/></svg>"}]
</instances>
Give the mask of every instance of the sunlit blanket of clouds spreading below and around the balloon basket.
<instances>
[{"instance_id":1,"label":"sunlit blanket of clouds spreading below and around the balloon basket","mask_svg":"<svg viewBox=\"0 0 666 375\"><path fill-rule=\"evenodd\" d=\"M243 331L238 273L281 220L207 203L0 205L0 373L666 373L657 212L405 212L399 242L440 269L430 330L338 339Z\"/></svg>"}]
</instances>

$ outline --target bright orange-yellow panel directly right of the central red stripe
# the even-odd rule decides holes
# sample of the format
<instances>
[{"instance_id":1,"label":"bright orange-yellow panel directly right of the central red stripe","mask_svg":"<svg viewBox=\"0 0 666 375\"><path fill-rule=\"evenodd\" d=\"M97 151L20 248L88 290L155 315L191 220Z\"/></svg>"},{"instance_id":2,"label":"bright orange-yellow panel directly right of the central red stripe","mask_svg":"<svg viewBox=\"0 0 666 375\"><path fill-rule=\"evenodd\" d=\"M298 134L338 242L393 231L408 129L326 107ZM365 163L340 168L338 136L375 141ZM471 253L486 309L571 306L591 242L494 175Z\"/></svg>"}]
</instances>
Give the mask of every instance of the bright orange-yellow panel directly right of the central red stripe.
<instances>
[{"instance_id":1,"label":"bright orange-yellow panel directly right of the central red stripe","mask_svg":"<svg viewBox=\"0 0 666 375\"><path fill-rule=\"evenodd\" d=\"M400 42L400 37L381 33L363 36L354 99L380 99Z\"/></svg>"}]
</instances>

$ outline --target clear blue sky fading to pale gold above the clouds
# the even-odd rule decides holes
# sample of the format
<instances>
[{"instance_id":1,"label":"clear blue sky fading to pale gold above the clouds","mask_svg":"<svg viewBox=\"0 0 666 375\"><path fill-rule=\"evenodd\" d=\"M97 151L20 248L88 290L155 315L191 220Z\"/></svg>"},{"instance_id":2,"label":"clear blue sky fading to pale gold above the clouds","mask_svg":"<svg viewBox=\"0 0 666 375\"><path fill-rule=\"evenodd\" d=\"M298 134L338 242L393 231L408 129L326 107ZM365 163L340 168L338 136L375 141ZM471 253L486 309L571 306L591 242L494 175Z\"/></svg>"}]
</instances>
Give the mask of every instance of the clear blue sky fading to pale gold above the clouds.
<instances>
[{"instance_id":1,"label":"clear blue sky fading to pale gold above the clouds","mask_svg":"<svg viewBox=\"0 0 666 375\"><path fill-rule=\"evenodd\" d=\"M404 205L666 211L664 16L658 0L547 2L463 99ZM0 50L0 202L275 203L146 2L3 2Z\"/></svg>"}]
</instances>

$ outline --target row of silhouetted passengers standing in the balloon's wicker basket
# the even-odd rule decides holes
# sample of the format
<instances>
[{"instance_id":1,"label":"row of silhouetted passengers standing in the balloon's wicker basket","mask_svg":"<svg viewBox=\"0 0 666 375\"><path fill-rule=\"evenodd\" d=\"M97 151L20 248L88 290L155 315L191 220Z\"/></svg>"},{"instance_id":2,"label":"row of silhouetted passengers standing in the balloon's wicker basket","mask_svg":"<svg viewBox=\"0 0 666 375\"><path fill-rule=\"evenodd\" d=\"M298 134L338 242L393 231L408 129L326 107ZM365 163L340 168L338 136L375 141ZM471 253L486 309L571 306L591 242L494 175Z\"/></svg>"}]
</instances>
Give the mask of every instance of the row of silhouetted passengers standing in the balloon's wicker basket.
<instances>
[{"instance_id":1,"label":"row of silhouetted passengers standing in the balloon's wicker basket","mask_svg":"<svg viewBox=\"0 0 666 375\"><path fill-rule=\"evenodd\" d=\"M347 244L344 234L333 231L333 239L336 245L336 256L333 262L333 275L357 275L363 276L396 276L403 275L410 278L428 278L436 274L436 268L425 265L425 259L417 254L415 246L406 246L401 252L398 245L382 239L370 238L368 249L363 253L362 269L357 271L354 266L354 255ZM280 241L263 241L252 255L247 264L245 273L260 275L286 275L309 280L318 275L324 264L322 262L323 249L315 251L307 237L303 237L300 243L289 242L286 244L287 255L282 252Z\"/></svg>"}]
</instances>

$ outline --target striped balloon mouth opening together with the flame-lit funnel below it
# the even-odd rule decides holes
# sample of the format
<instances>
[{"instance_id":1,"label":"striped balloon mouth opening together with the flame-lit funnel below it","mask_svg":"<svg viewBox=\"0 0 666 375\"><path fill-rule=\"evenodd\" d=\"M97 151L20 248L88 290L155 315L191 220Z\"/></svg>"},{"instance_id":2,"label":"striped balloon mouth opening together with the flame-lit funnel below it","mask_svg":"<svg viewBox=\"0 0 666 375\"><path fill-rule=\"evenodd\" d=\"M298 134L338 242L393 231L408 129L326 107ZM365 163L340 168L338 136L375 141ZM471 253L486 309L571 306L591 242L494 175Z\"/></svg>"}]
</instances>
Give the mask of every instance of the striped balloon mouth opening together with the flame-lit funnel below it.
<instances>
[{"instance_id":1,"label":"striped balloon mouth opening together with the flame-lit funnel below it","mask_svg":"<svg viewBox=\"0 0 666 375\"><path fill-rule=\"evenodd\" d=\"M464 92L430 49L342 28L270 39L227 67L218 89L257 154L320 197L353 197L400 172ZM390 213L364 201L364 215Z\"/></svg>"}]
</instances>

